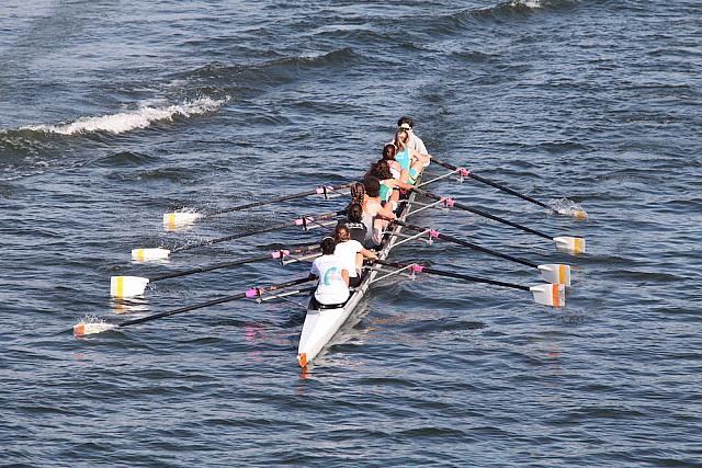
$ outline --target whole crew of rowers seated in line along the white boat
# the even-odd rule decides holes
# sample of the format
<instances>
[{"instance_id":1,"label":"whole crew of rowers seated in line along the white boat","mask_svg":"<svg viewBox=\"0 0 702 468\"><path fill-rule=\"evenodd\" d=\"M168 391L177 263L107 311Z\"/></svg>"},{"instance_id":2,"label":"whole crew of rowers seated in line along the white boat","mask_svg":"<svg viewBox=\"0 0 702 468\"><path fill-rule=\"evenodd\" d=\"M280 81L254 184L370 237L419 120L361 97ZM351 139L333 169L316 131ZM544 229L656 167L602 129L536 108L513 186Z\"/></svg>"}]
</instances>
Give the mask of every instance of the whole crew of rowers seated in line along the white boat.
<instances>
[{"instance_id":1,"label":"whole crew of rowers seated in line along the white boat","mask_svg":"<svg viewBox=\"0 0 702 468\"><path fill-rule=\"evenodd\" d=\"M338 222L335 236L321 240L321 256L315 259L310 277L318 277L315 299L321 305L339 305L350 296L349 288L361 284L364 259L377 259L383 233L395 219L400 192L414 187L429 165L421 138L412 132L410 117L400 117L392 144L383 147L382 159L371 165L363 182L351 184L347 219Z\"/></svg>"}]
</instances>

